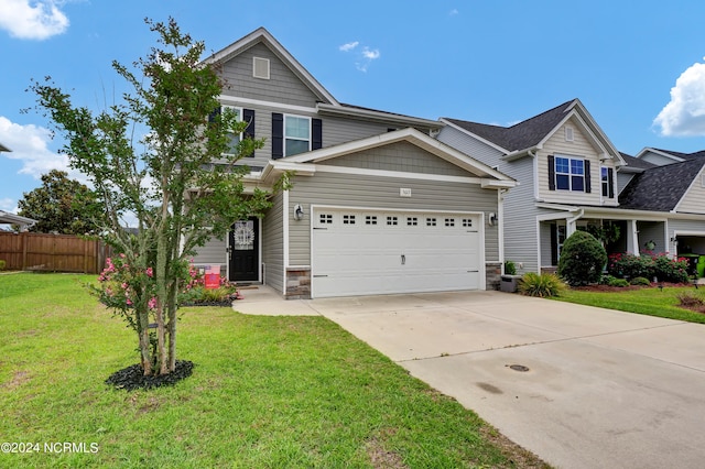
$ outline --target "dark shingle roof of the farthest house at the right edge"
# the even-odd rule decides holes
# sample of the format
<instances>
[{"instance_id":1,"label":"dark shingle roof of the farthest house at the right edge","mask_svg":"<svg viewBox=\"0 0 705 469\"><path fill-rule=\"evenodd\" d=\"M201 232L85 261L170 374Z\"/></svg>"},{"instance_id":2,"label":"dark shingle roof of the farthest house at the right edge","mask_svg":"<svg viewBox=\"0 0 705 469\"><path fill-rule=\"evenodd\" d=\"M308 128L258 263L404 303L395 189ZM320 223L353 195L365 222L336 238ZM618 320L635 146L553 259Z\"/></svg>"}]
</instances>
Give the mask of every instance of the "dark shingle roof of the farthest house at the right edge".
<instances>
[{"instance_id":1,"label":"dark shingle roof of the farthest house at the right edge","mask_svg":"<svg viewBox=\"0 0 705 469\"><path fill-rule=\"evenodd\" d=\"M638 210L673 210L703 165L705 157L696 157L648 168L627 184L619 195L619 206Z\"/></svg>"}]
</instances>

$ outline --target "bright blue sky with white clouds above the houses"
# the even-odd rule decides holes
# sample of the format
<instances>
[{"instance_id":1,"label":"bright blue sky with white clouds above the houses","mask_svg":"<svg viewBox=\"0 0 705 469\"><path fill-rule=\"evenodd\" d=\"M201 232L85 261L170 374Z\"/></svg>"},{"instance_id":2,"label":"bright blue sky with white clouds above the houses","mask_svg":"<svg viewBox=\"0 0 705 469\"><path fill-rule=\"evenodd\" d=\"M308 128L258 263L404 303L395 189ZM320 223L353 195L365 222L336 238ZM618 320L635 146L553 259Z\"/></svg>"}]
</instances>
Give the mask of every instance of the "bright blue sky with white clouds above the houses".
<instances>
[{"instance_id":1,"label":"bright blue sky with white clouds above the houses","mask_svg":"<svg viewBox=\"0 0 705 469\"><path fill-rule=\"evenodd\" d=\"M66 168L30 80L104 109L170 15L213 52L267 28L341 102L510 126L579 98L620 151L705 150L702 0L0 0L0 209Z\"/></svg>"}]
</instances>

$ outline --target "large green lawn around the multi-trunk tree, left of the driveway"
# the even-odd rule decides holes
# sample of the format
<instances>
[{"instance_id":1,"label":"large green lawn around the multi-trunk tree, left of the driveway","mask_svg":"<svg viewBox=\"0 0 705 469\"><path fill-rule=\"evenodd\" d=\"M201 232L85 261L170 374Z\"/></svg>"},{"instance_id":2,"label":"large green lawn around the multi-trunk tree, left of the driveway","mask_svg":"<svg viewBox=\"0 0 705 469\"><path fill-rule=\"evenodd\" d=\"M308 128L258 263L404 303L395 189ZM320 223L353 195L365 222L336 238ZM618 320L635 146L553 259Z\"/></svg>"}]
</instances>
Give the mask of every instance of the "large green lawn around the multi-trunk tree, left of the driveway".
<instances>
[{"instance_id":1,"label":"large green lawn around the multi-trunk tree, left of the driveway","mask_svg":"<svg viewBox=\"0 0 705 469\"><path fill-rule=\"evenodd\" d=\"M0 443L36 450L0 467L543 467L323 317L184 308L194 374L110 389L135 340L80 286L94 279L0 275Z\"/></svg>"}]
</instances>

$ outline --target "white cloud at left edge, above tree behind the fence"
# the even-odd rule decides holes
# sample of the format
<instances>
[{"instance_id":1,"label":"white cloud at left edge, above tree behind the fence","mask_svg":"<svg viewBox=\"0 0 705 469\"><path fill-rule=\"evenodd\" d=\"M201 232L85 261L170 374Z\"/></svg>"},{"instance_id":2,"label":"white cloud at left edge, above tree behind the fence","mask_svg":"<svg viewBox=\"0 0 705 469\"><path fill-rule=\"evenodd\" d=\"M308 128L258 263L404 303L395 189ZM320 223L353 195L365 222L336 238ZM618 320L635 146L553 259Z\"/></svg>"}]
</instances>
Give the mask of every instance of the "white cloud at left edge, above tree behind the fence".
<instances>
[{"instance_id":1,"label":"white cloud at left edge, above tree behind the fence","mask_svg":"<svg viewBox=\"0 0 705 469\"><path fill-rule=\"evenodd\" d=\"M52 170L66 171L69 174L68 159L48 149L52 135L48 129L33 124L20 126L0 116L0 135L2 144L12 150L0 153L1 157L22 162L20 174L29 174L39 179Z\"/></svg>"}]
</instances>

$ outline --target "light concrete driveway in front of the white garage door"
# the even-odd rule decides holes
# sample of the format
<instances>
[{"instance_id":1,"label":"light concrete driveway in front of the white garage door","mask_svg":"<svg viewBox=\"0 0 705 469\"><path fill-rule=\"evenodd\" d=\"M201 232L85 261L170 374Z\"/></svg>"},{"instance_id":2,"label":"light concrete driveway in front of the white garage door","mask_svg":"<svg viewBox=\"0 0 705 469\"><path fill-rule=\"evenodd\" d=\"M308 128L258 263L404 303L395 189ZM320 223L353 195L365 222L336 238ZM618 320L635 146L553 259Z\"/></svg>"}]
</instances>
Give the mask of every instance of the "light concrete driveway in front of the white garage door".
<instances>
[{"instance_id":1,"label":"light concrete driveway in front of the white garage door","mask_svg":"<svg viewBox=\"0 0 705 469\"><path fill-rule=\"evenodd\" d=\"M705 467L703 325L500 292L243 294L336 321L556 467Z\"/></svg>"}]
</instances>

